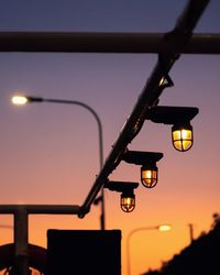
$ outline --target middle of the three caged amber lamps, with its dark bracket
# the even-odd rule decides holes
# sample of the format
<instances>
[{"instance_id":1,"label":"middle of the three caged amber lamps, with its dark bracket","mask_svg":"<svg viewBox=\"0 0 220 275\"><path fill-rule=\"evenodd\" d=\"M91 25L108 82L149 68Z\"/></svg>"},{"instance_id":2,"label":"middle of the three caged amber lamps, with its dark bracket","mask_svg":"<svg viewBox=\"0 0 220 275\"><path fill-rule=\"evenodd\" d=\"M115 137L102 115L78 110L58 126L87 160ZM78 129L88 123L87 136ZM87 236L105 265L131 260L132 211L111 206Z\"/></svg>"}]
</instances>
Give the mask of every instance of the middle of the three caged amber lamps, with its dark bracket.
<instances>
[{"instance_id":1,"label":"middle of the three caged amber lamps, with its dark bracket","mask_svg":"<svg viewBox=\"0 0 220 275\"><path fill-rule=\"evenodd\" d=\"M142 165L141 167L141 183L146 188L153 188L158 180L158 169L156 162L163 157L162 153L127 151L122 160L127 163Z\"/></svg>"}]
</instances>

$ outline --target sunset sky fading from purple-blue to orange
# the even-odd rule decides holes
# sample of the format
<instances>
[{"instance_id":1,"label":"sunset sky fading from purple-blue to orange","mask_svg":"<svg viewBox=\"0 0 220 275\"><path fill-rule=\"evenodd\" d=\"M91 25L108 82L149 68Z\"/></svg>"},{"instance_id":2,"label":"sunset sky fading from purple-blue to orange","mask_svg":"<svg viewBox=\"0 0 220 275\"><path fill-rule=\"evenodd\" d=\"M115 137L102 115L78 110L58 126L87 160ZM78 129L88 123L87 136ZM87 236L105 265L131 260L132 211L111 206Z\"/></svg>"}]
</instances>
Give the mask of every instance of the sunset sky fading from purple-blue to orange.
<instances>
[{"instance_id":1,"label":"sunset sky fading from purple-blue to orange","mask_svg":"<svg viewBox=\"0 0 220 275\"><path fill-rule=\"evenodd\" d=\"M0 1L0 31L168 32L187 1ZM220 33L220 2L212 0L195 32ZM16 92L82 101L103 125L105 157L131 113L157 56L155 54L0 53L0 204L81 205L99 172L98 130L85 109L65 105L10 103ZM173 230L139 232L131 239L132 275L163 261L208 231L220 211L219 118L220 57L182 55L170 70L175 84L161 105L195 106L194 147L187 153L170 144L170 127L146 122L131 150L163 152L160 182L140 186L136 209L124 213L119 195L106 194L107 229L122 230L122 275L127 275L127 237L134 228L168 222ZM112 180L140 182L140 168L121 163ZM30 217L30 242L46 246L46 230L99 229L100 208L85 219L75 216ZM1 216L12 224L11 216ZM0 243L12 242L2 229Z\"/></svg>"}]
</instances>

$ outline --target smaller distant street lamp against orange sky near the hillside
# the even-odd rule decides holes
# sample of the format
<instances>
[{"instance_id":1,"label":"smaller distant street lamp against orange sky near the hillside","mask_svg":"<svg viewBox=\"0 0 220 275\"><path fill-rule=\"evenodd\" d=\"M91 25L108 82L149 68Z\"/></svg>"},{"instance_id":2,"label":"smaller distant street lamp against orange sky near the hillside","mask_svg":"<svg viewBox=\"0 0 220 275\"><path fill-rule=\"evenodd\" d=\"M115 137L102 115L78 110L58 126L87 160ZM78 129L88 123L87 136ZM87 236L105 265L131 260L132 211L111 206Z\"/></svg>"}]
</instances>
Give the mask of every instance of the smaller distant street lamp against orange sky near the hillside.
<instances>
[{"instance_id":1,"label":"smaller distant street lamp against orange sky near the hillside","mask_svg":"<svg viewBox=\"0 0 220 275\"><path fill-rule=\"evenodd\" d=\"M141 227L141 228L135 228L133 229L128 238L127 238L127 268L128 268L128 275L131 275L131 256L130 256L130 240L131 237L139 232L139 231L144 231L144 230L158 230L158 231L169 231L172 227L169 224L160 224L160 226L154 226L154 227Z\"/></svg>"}]
</instances>

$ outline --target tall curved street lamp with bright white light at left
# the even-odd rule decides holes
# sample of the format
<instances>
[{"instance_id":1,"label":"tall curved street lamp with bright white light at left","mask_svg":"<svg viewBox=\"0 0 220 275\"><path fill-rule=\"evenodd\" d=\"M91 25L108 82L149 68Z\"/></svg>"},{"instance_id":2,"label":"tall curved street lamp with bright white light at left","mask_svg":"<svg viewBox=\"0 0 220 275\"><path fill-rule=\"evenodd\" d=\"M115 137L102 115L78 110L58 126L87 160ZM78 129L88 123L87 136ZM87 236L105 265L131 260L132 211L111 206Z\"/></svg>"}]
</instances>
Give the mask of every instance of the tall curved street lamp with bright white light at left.
<instances>
[{"instance_id":1,"label":"tall curved street lamp with bright white light at left","mask_svg":"<svg viewBox=\"0 0 220 275\"><path fill-rule=\"evenodd\" d=\"M102 124L97 112L88 105L77 101L77 100L64 100L64 99L48 99L42 97L26 97L26 96L14 96L12 97L12 102L14 105L25 105L28 102L48 102L48 103L64 103L64 105L77 105L87 109L96 119L98 125L98 135L99 135L99 167L100 170L103 166L103 135L102 135ZM100 200L101 202L101 216L100 216L100 228L101 230L106 229L106 215L105 215L105 193L103 187L101 188Z\"/></svg>"}]
</instances>

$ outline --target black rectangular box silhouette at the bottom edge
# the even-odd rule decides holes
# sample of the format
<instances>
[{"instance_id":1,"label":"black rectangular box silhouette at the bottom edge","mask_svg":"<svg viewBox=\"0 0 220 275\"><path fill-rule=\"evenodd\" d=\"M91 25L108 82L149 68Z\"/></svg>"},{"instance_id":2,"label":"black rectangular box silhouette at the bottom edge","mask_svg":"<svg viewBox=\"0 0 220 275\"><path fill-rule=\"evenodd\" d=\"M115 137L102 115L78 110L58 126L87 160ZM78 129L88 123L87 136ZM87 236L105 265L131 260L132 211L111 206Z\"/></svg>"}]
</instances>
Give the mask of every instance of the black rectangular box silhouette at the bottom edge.
<instances>
[{"instance_id":1,"label":"black rectangular box silhouette at the bottom edge","mask_svg":"<svg viewBox=\"0 0 220 275\"><path fill-rule=\"evenodd\" d=\"M121 275L120 230L48 230L46 275Z\"/></svg>"}]
</instances>

